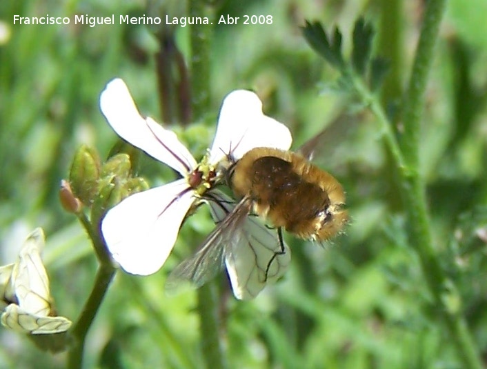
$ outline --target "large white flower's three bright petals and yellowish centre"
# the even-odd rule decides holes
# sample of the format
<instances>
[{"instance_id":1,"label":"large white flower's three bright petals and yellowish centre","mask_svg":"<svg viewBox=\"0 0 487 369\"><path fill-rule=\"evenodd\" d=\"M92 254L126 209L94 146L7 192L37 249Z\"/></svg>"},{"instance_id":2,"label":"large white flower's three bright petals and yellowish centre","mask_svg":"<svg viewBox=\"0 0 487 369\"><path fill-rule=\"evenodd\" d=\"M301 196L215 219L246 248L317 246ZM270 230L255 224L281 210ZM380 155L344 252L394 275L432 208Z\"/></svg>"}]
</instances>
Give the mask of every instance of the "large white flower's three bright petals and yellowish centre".
<instances>
[{"instance_id":1,"label":"large white flower's three bright petals and yellowish centre","mask_svg":"<svg viewBox=\"0 0 487 369\"><path fill-rule=\"evenodd\" d=\"M215 182L217 165L227 154L239 159L261 146L288 150L292 142L288 128L264 115L257 95L246 90L230 92L224 99L215 139L200 163L174 132L141 117L121 79L108 83L101 93L100 107L120 137L182 176L127 197L110 209L101 223L113 259L136 275L150 275L163 266L186 213Z\"/></svg>"}]
</instances>

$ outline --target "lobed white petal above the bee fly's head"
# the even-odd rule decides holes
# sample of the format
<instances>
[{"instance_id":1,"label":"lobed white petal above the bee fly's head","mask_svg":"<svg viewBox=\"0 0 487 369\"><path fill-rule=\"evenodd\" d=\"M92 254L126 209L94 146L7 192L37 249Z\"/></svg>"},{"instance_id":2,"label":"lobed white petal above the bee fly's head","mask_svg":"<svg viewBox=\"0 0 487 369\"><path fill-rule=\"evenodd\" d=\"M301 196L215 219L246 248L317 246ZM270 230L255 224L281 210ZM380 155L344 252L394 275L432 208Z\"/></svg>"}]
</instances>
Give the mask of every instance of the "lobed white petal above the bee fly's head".
<instances>
[{"instance_id":1,"label":"lobed white petal above the bee fly's head","mask_svg":"<svg viewBox=\"0 0 487 369\"><path fill-rule=\"evenodd\" d=\"M292 143L289 129L262 112L257 94L247 90L230 92L223 100L210 163L218 163L226 154L240 159L252 148L288 150Z\"/></svg>"}]
</instances>

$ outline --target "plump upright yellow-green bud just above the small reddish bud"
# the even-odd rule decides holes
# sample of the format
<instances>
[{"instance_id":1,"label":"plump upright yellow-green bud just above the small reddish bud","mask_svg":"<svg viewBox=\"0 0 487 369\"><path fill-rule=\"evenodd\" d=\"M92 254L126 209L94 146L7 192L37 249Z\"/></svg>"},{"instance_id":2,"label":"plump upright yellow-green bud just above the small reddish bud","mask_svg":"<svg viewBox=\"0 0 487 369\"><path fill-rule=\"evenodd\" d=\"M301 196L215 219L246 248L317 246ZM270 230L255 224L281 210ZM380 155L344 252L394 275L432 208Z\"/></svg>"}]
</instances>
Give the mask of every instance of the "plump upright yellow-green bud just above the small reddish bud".
<instances>
[{"instance_id":1,"label":"plump upright yellow-green bud just above the small reddish bud","mask_svg":"<svg viewBox=\"0 0 487 369\"><path fill-rule=\"evenodd\" d=\"M82 145L74 154L70 171L70 185L75 197L83 203L92 203L100 175L100 159L97 152Z\"/></svg>"}]
</instances>

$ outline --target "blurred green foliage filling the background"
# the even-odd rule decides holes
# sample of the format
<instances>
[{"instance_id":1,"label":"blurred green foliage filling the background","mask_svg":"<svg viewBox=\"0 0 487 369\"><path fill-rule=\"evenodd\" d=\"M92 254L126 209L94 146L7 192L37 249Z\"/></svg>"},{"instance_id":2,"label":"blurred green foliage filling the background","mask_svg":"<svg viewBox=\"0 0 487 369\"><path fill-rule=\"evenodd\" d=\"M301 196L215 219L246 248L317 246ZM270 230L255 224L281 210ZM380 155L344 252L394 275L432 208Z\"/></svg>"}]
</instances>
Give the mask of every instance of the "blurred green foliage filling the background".
<instances>
[{"instance_id":1,"label":"blurred green foliage filling the background","mask_svg":"<svg viewBox=\"0 0 487 369\"><path fill-rule=\"evenodd\" d=\"M323 130L348 100L332 84L336 73L307 45L299 28L305 19L319 20L329 31L339 26L350 54L353 23L366 17L377 34L375 54L391 59L386 86L404 86L422 2L390 0L399 11L384 14L384 1L216 1L216 19L220 14L241 19L243 14L272 14L273 23L215 26L213 109L186 130L174 119L175 130L195 156L204 154L219 103L235 88L256 90L266 113L290 127L295 148ZM185 6L183 1L136 0L0 3L0 32L8 32L0 37L0 263L12 262L28 232L43 227L52 295L61 315L72 320L90 293L97 261L77 220L61 208L59 183L68 177L82 143L97 148L105 159L117 142L98 107L99 93L110 79L123 78L139 110L163 121L155 58L159 39L165 35L175 41L188 61L190 27L91 28L73 21L68 26L19 26L13 15L165 18L188 15ZM466 315L486 355L486 245L477 235L487 226L487 23L481 9L486 10L484 0L449 3L428 83L420 157L437 257L455 284L454 290L444 291L446 305ZM392 41L381 26L388 24L387 17L400 25L399 38ZM174 66L165 72L181 78ZM396 97L383 96L391 114ZM220 277L223 326L215 329L221 330L232 368L460 366L453 338L439 326L438 312L428 308L430 296L408 246L398 184L377 126L367 117L350 125L352 129L330 132L318 158L346 189L352 217L346 235L324 249L289 237L290 270L254 301L236 301L225 276ZM146 156L139 175L152 186L175 176ZM88 334L84 367L201 367L195 292L167 296L163 285L168 272L211 227L202 209L183 226L160 272L150 277L117 274ZM6 329L0 330L0 342L0 368L65 365L64 354L42 352Z\"/></svg>"}]
</instances>

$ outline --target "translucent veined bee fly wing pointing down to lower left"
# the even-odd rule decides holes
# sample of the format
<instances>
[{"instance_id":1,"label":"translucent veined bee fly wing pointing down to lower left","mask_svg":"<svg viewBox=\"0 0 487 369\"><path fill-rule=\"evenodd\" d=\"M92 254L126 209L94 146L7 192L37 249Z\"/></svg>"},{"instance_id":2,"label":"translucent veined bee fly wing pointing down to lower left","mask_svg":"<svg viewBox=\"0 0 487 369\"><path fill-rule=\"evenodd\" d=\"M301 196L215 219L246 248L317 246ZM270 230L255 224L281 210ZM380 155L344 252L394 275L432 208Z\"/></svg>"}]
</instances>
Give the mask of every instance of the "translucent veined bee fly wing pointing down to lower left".
<instances>
[{"instance_id":1,"label":"translucent veined bee fly wing pointing down to lower left","mask_svg":"<svg viewBox=\"0 0 487 369\"><path fill-rule=\"evenodd\" d=\"M235 208L220 219L195 255L172 270L166 281L166 289L174 290L184 281L190 281L192 286L199 288L215 277L225 265L226 253L232 249L231 244L239 242L242 225L249 211L250 200L244 197Z\"/></svg>"}]
</instances>

